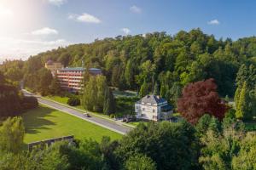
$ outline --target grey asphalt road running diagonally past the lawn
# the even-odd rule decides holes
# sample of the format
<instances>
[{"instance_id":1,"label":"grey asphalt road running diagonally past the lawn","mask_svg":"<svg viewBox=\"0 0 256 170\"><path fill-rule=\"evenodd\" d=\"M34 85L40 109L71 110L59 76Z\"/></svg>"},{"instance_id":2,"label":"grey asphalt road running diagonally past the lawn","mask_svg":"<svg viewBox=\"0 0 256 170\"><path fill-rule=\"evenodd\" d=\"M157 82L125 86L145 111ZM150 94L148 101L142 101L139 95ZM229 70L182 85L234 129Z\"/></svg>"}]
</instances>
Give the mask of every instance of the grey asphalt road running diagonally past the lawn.
<instances>
[{"instance_id":1,"label":"grey asphalt road running diagonally past the lawn","mask_svg":"<svg viewBox=\"0 0 256 170\"><path fill-rule=\"evenodd\" d=\"M40 96L28 93L25 90L23 90L23 93L27 96L35 96L36 98L38 98L38 102L40 104L47 105L55 110L65 112L72 116L77 116L80 119L83 119L84 121L92 122L98 126L108 128L109 130L112 130L116 133L125 134L125 133L128 133L132 129L131 127L126 127L124 125L120 125L116 122L108 121L108 120L98 117L98 116L90 115L90 117L86 117L83 115L82 111L77 111L77 110L74 110L65 105L58 104L58 103L50 101L48 99L43 99ZM72 126L72 125L70 125L70 126Z\"/></svg>"}]
</instances>

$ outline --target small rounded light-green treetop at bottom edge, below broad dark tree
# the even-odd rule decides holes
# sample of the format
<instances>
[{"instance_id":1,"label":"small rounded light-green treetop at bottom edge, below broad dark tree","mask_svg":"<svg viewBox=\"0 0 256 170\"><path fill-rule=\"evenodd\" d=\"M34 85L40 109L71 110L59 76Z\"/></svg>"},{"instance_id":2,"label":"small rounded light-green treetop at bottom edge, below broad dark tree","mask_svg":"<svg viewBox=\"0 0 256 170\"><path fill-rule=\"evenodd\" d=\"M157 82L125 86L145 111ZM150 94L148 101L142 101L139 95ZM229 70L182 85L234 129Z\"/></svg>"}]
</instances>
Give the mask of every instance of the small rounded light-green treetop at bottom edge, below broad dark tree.
<instances>
[{"instance_id":1,"label":"small rounded light-green treetop at bottom edge, below broad dark tree","mask_svg":"<svg viewBox=\"0 0 256 170\"><path fill-rule=\"evenodd\" d=\"M125 161L125 169L127 170L156 170L154 161L142 154L136 154L131 156L127 161Z\"/></svg>"}]
</instances>

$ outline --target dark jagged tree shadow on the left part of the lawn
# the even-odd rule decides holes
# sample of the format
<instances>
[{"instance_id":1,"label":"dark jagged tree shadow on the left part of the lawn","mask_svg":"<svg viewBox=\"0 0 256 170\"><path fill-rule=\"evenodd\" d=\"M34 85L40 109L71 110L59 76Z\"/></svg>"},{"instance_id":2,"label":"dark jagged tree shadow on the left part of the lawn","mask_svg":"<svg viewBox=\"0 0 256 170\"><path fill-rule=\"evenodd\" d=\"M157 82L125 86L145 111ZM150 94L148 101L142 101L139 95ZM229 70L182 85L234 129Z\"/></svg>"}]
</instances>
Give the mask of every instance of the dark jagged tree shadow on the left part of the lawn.
<instances>
[{"instance_id":1,"label":"dark jagged tree shadow on the left part of the lawn","mask_svg":"<svg viewBox=\"0 0 256 170\"><path fill-rule=\"evenodd\" d=\"M45 119L45 116L50 115L51 112L55 111L49 107L40 105L37 109L28 111L23 115L24 126L26 133L36 134L38 129L50 129L49 125L55 125L55 122L51 122Z\"/></svg>"}]
</instances>

